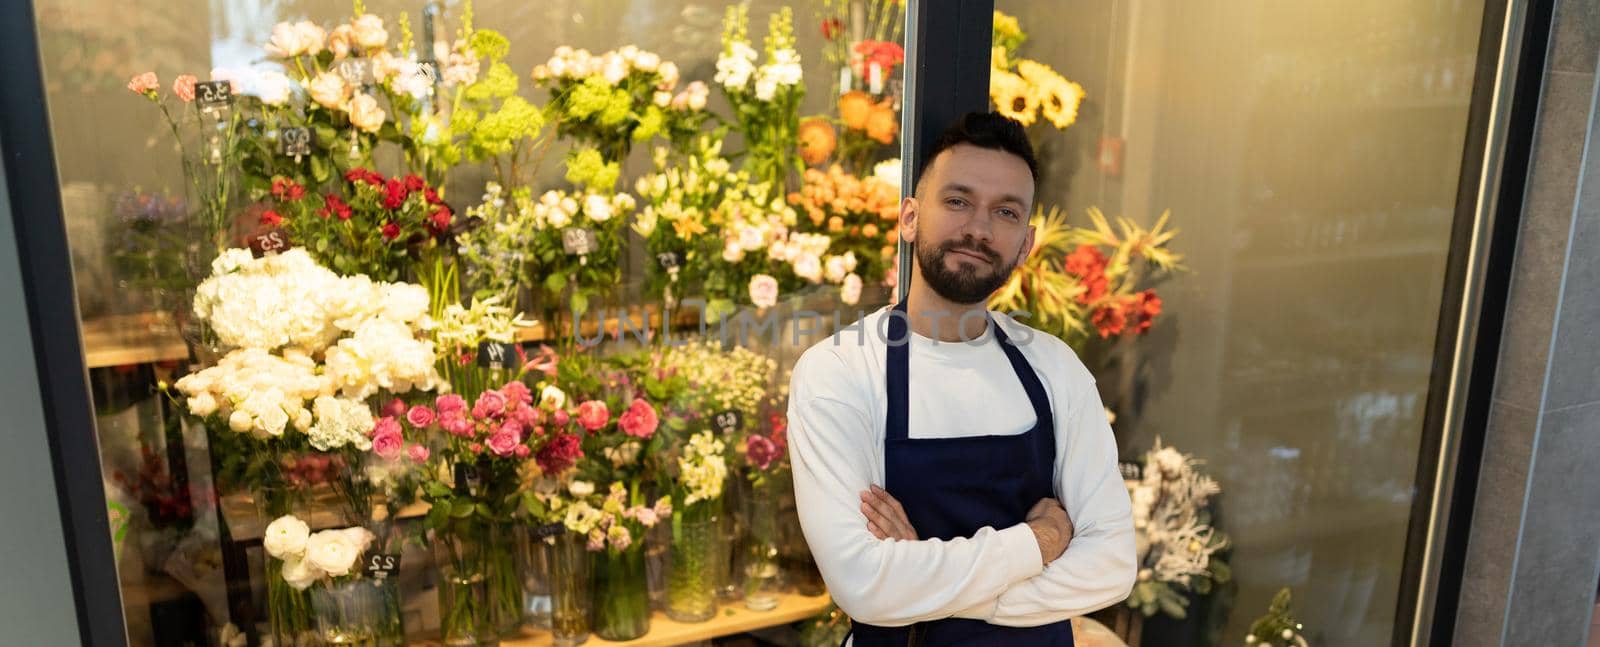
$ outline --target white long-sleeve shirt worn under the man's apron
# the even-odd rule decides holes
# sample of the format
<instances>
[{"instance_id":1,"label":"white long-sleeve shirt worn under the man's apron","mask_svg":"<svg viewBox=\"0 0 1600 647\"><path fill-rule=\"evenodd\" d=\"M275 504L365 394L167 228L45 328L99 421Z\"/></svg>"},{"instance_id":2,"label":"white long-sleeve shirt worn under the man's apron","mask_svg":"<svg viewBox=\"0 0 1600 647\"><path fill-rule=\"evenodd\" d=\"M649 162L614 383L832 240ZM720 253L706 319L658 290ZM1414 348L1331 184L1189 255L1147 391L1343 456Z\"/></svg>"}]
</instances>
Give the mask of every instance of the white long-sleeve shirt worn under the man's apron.
<instances>
[{"instance_id":1,"label":"white long-sleeve shirt worn under the man's apron","mask_svg":"<svg viewBox=\"0 0 1600 647\"><path fill-rule=\"evenodd\" d=\"M992 319L1038 373L1056 420L1056 498L1074 536L1048 567L1026 524L950 541L878 540L861 492L883 485L888 309L810 348L789 392L795 503L822 580L851 618L901 626L949 617L1037 626L1107 607L1133 589L1134 535L1117 442L1094 378L1072 349L1002 314ZM973 343L910 340L912 439L1021 434L1027 392L986 332Z\"/></svg>"}]
</instances>

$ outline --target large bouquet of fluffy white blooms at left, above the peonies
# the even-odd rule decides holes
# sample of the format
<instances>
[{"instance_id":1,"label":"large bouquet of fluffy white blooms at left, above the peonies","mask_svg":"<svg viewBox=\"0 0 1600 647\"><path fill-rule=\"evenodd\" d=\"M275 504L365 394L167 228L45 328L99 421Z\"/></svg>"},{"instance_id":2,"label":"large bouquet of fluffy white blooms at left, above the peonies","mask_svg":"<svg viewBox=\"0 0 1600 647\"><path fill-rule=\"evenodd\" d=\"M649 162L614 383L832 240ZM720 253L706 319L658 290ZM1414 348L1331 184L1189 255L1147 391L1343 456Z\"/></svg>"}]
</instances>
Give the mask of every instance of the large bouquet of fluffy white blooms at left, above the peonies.
<instances>
[{"instance_id":1,"label":"large bouquet of fluffy white blooms at left, above the peonies","mask_svg":"<svg viewBox=\"0 0 1600 647\"><path fill-rule=\"evenodd\" d=\"M419 285L339 277L299 248L219 255L194 314L226 354L173 386L213 431L224 488L286 512L318 480L298 469L309 458L331 476L346 512L365 520L371 492L352 474L374 452L374 405L442 384L434 343L421 335L427 307ZM389 442L378 453L400 448Z\"/></svg>"}]
</instances>

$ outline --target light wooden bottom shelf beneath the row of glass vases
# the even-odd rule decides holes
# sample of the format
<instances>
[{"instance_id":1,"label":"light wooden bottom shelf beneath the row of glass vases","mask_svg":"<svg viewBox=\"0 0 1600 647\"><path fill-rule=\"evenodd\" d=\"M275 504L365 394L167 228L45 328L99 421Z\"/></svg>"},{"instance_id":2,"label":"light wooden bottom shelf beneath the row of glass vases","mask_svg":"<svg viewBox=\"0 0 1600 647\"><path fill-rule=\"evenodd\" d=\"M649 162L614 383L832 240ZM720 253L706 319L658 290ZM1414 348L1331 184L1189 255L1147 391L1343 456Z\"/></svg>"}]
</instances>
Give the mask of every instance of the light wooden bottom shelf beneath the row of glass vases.
<instances>
[{"instance_id":1,"label":"light wooden bottom shelf beneath the row of glass vases","mask_svg":"<svg viewBox=\"0 0 1600 647\"><path fill-rule=\"evenodd\" d=\"M744 604L734 602L717 609L717 617L704 623L680 623L656 612L650 617L650 633L637 641L611 642L597 636L589 636L584 645L627 645L627 647L670 647L722 636L742 634L746 631L765 629L778 625L797 623L811 618L827 609L832 602L827 594L816 597L797 593L778 596L778 609L768 612L752 612ZM413 641L411 644L438 647L438 639ZM501 647L549 647L555 642L549 631L523 629L522 636L501 639Z\"/></svg>"}]
</instances>

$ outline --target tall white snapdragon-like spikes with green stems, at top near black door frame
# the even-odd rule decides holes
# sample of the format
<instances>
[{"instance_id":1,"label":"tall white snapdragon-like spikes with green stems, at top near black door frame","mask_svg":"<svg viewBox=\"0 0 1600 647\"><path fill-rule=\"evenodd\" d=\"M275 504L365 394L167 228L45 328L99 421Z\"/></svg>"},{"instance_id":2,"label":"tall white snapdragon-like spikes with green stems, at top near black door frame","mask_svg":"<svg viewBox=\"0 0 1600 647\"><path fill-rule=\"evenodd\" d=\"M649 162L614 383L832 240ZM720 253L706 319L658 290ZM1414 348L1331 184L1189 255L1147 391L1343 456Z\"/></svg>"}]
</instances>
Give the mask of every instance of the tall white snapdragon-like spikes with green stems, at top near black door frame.
<instances>
[{"instance_id":1,"label":"tall white snapdragon-like spikes with green stems, at top near black door frame","mask_svg":"<svg viewBox=\"0 0 1600 647\"><path fill-rule=\"evenodd\" d=\"M784 192L790 173L803 168L795 151L800 99L805 98L800 53L795 51L794 11L771 14L763 42L765 61L749 40L749 6L728 6L717 54L717 86L734 114L734 130L744 136L744 168L760 183Z\"/></svg>"}]
</instances>

